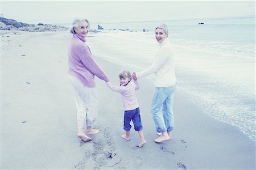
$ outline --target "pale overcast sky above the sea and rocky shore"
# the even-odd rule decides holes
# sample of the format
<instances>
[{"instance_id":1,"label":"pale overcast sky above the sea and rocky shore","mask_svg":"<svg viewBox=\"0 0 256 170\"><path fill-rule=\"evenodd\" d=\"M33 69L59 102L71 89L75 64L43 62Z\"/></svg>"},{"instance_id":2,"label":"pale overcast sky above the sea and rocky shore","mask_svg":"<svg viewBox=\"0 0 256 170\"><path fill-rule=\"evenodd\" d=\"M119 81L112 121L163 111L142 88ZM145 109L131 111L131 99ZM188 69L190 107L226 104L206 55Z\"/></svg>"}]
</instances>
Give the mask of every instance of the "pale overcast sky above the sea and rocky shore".
<instances>
[{"instance_id":1,"label":"pale overcast sky above the sea and rocky shore","mask_svg":"<svg viewBox=\"0 0 256 170\"><path fill-rule=\"evenodd\" d=\"M115 23L255 15L255 1L2 1L1 14L18 22Z\"/></svg>"}]
</instances>

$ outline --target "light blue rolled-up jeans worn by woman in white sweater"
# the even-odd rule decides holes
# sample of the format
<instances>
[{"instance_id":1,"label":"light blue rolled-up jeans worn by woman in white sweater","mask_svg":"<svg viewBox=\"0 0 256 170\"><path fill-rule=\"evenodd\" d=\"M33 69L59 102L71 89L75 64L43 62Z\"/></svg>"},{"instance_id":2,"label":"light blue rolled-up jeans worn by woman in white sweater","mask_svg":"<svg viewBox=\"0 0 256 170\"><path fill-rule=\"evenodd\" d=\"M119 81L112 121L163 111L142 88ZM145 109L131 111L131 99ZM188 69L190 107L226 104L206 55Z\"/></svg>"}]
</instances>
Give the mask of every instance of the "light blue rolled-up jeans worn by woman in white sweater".
<instances>
[{"instance_id":1,"label":"light blue rolled-up jeans worn by woman in white sweater","mask_svg":"<svg viewBox=\"0 0 256 170\"><path fill-rule=\"evenodd\" d=\"M157 132L172 131L174 129L173 100L176 83L169 87L155 87L151 113L155 121ZM160 109L162 108L162 112Z\"/></svg>"}]
</instances>

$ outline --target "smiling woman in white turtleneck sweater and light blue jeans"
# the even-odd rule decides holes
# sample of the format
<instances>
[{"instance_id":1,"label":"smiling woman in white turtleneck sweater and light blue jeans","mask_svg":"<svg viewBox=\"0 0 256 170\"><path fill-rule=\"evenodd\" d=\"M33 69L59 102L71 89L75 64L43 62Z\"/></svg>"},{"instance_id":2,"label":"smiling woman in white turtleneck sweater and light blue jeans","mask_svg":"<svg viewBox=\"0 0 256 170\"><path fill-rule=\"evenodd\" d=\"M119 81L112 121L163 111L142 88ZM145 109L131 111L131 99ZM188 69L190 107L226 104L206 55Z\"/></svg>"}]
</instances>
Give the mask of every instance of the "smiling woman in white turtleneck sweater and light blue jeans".
<instances>
[{"instance_id":1,"label":"smiling woman in white turtleneck sweater and light blue jeans","mask_svg":"<svg viewBox=\"0 0 256 170\"><path fill-rule=\"evenodd\" d=\"M151 113L154 118L159 138L156 143L170 140L170 132L174 129L173 100L176 86L174 69L174 54L168 40L168 28L166 24L160 24L155 28L155 38L160 49L154 62L146 70L133 73L133 78L155 74L155 91L152 97ZM162 108L162 111L160 109Z\"/></svg>"}]
</instances>

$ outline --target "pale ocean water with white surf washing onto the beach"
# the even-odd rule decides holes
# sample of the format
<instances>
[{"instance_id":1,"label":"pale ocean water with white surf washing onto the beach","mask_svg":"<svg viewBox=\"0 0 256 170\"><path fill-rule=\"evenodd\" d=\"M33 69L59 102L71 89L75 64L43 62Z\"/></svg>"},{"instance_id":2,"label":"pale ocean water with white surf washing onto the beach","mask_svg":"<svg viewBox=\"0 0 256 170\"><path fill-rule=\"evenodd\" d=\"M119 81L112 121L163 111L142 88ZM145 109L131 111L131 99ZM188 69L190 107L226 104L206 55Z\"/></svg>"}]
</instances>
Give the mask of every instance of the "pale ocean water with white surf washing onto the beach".
<instances>
[{"instance_id":1,"label":"pale ocean water with white surf washing onto the beach","mask_svg":"<svg viewBox=\"0 0 256 170\"><path fill-rule=\"evenodd\" d=\"M96 56L140 71L158 50L154 28L159 23L100 23L112 30L93 34L88 43ZM164 23L175 49L177 88L206 114L255 141L255 16Z\"/></svg>"}]
</instances>

